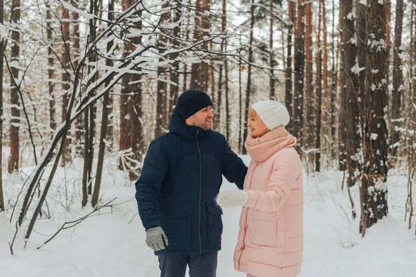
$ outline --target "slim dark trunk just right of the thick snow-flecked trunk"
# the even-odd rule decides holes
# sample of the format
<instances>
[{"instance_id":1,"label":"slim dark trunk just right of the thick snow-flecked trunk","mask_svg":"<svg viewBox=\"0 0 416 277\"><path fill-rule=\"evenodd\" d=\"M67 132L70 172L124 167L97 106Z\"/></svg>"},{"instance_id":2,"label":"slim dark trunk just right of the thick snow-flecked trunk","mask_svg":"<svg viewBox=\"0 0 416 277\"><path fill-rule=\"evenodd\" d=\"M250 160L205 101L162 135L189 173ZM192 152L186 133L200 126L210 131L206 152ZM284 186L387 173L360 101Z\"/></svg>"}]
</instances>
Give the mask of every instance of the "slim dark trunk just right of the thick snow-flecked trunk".
<instances>
[{"instance_id":1,"label":"slim dark trunk just right of the thick snow-flecked trunk","mask_svg":"<svg viewBox=\"0 0 416 277\"><path fill-rule=\"evenodd\" d=\"M395 48L393 49L393 99L392 99L392 166L397 162L400 141L400 109L404 93L403 69L401 62L401 34L403 31L404 5L403 0L396 2ZM413 64L412 64L413 66Z\"/></svg>"}]
</instances>

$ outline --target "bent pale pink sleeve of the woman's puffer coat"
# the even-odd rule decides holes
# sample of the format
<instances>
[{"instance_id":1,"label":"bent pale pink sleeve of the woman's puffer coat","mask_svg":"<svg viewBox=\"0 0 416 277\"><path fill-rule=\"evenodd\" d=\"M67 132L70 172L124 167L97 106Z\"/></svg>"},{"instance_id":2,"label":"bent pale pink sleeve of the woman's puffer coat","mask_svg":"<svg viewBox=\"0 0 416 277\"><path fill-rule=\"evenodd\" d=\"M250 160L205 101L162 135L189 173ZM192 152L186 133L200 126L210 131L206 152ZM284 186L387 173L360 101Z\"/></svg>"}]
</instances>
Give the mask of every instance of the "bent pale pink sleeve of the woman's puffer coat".
<instances>
[{"instance_id":1,"label":"bent pale pink sleeve of the woman's puffer coat","mask_svg":"<svg viewBox=\"0 0 416 277\"><path fill-rule=\"evenodd\" d=\"M297 153L277 157L273 162L268 190L246 190L248 202L245 206L259 211L278 211L291 193L301 170L302 162Z\"/></svg>"}]
</instances>

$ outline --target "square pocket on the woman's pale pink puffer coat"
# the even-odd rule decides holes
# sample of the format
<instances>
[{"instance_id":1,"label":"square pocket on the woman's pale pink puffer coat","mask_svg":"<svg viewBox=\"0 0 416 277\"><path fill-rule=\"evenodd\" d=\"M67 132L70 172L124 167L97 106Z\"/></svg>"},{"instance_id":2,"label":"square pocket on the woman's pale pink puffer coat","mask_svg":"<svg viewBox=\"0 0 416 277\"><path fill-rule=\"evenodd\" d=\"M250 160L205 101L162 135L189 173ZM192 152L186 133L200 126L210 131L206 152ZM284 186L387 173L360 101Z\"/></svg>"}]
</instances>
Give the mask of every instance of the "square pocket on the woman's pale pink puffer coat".
<instances>
[{"instance_id":1,"label":"square pocket on the woman's pale pink puffer coat","mask_svg":"<svg viewBox=\"0 0 416 277\"><path fill-rule=\"evenodd\" d=\"M277 247L277 215L265 211L253 210L252 243Z\"/></svg>"}]
</instances>

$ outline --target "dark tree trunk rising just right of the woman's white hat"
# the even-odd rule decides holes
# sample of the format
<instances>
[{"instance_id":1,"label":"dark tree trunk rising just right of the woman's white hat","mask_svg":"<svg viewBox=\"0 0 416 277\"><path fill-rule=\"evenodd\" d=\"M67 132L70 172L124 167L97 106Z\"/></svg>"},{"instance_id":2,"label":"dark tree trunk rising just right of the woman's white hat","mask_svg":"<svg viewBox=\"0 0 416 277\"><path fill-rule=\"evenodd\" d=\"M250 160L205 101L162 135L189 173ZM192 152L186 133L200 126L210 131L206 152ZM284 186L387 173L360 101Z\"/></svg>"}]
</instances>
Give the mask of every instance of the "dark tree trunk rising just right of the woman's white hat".
<instances>
[{"instance_id":1,"label":"dark tree trunk rising just right of the woman's white hat","mask_svg":"<svg viewBox=\"0 0 416 277\"><path fill-rule=\"evenodd\" d=\"M297 26L295 37L295 99L293 112L293 135L300 140L303 129L303 102L304 102L304 10L305 0L297 0Z\"/></svg>"}]
</instances>

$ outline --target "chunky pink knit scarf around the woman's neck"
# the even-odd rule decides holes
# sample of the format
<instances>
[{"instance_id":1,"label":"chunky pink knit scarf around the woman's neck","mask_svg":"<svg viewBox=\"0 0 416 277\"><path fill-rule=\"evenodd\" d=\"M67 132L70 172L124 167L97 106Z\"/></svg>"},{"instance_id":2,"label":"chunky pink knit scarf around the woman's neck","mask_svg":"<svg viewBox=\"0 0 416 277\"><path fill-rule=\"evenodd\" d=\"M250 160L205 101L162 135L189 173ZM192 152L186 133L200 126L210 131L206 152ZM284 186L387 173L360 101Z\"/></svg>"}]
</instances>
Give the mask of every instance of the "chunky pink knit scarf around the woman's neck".
<instances>
[{"instance_id":1,"label":"chunky pink knit scarf around the woman's neck","mask_svg":"<svg viewBox=\"0 0 416 277\"><path fill-rule=\"evenodd\" d=\"M253 138L249 134L244 146L254 161L262 162L272 157L281 148L295 144L296 138L288 134L283 126L279 126L259 138Z\"/></svg>"}]
</instances>

